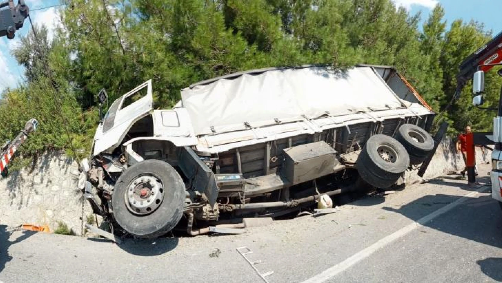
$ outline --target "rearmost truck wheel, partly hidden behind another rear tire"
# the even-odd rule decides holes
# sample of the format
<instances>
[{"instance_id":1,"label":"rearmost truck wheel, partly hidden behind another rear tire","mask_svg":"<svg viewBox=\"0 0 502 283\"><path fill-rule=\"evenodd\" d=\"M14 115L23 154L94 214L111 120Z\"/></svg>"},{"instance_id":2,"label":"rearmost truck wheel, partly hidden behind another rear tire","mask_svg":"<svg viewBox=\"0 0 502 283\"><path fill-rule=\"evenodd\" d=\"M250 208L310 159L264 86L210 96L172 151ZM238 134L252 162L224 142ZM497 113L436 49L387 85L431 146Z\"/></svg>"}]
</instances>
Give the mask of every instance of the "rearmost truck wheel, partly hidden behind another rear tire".
<instances>
[{"instance_id":1,"label":"rearmost truck wheel, partly hidden behind another rear tire","mask_svg":"<svg viewBox=\"0 0 502 283\"><path fill-rule=\"evenodd\" d=\"M399 127L396 139L406 148L410 155L410 164L422 163L434 149L434 139L431 135L413 124L404 124Z\"/></svg>"}]
</instances>

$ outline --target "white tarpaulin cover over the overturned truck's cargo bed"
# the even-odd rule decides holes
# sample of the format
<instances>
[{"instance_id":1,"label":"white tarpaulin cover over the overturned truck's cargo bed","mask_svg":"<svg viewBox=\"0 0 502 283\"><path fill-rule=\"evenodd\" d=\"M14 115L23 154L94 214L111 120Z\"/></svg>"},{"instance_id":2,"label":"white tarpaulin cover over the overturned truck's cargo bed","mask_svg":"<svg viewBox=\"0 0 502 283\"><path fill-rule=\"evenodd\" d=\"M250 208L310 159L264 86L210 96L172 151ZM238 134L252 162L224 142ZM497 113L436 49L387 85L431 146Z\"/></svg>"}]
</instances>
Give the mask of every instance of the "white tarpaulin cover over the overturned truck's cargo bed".
<instances>
[{"instance_id":1,"label":"white tarpaulin cover over the overturned truck's cargo bed","mask_svg":"<svg viewBox=\"0 0 502 283\"><path fill-rule=\"evenodd\" d=\"M220 79L181 91L196 135L244 123L401 108L399 98L370 67L271 70ZM369 108L370 109L369 109Z\"/></svg>"}]
</instances>

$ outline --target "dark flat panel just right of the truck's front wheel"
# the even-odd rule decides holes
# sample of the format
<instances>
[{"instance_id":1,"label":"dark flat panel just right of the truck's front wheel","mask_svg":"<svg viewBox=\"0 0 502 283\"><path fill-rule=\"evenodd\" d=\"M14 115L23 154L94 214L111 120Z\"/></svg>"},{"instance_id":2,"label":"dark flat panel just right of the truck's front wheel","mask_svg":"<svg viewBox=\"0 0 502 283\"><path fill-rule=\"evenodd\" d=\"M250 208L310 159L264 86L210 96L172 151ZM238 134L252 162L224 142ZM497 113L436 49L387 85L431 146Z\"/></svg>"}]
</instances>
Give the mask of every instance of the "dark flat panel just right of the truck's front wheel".
<instances>
[{"instance_id":1,"label":"dark flat panel just right of the truck's front wheel","mask_svg":"<svg viewBox=\"0 0 502 283\"><path fill-rule=\"evenodd\" d=\"M193 189L205 193L212 207L218 198L219 188L211 169L188 146L184 146L180 150L179 166L185 176L191 180Z\"/></svg>"}]
</instances>

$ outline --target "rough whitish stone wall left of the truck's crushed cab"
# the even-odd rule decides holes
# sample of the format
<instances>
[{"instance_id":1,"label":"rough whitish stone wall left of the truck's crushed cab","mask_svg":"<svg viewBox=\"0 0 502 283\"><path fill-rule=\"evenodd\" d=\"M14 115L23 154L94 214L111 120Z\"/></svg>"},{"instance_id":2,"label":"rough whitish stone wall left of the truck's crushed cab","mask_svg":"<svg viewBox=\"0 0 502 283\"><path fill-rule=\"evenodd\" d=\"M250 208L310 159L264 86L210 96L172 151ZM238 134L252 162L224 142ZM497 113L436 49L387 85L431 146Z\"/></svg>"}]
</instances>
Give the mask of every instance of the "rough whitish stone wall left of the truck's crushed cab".
<instances>
[{"instance_id":1,"label":"rough whitish stone wall left of the truck's crushed cab","mask_svg":"<svg viewBox=\"0 0 502 283\"><path fill-rule=\"evenodd\" d=\"M54 231L58 221L63 221L80 234L78 175L77 163L59 153L43 155L31 168L9 172L7 178L0 179L0 223L48 225ZM86 215L91 213L87 201L84 209Z\"/></svg>"}]
</instances>

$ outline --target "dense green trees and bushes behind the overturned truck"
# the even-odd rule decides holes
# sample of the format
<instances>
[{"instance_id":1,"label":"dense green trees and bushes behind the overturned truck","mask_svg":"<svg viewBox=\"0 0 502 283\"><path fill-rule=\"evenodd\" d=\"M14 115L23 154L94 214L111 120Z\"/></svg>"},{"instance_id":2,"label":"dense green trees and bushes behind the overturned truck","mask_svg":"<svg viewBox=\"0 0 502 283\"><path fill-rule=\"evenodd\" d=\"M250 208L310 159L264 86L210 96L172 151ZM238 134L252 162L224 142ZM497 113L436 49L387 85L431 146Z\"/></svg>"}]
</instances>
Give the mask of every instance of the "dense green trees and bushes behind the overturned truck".
<instances>
[{"instance_id":1,"label":"dense green trees and bushes behind the overturned truck","mask_svg":"<svg viewBox=\"0 0 502 283\"><path fill-rule=\"evenodd\" d=\"M68 150L54 97L73 144L87 153L103 87L111 105L152 79L155 107L169 108L194 82L271 66L394 66L440 112L455 92L461 61L489 40L479 23L448 27L439 5L419 29L420 15L391 0L72 0L61 9L63 28L52 42L43 26L38 38L21 39L13 55L27 83L0 99L0 141L32 117L40 122L22 155ZM488 106L498 100L494 73L486 75ZM443 115L452 133L465 124L491 127L493 113L472 107L469 92L466 86Z\"/></svg>"}]
</instances>

